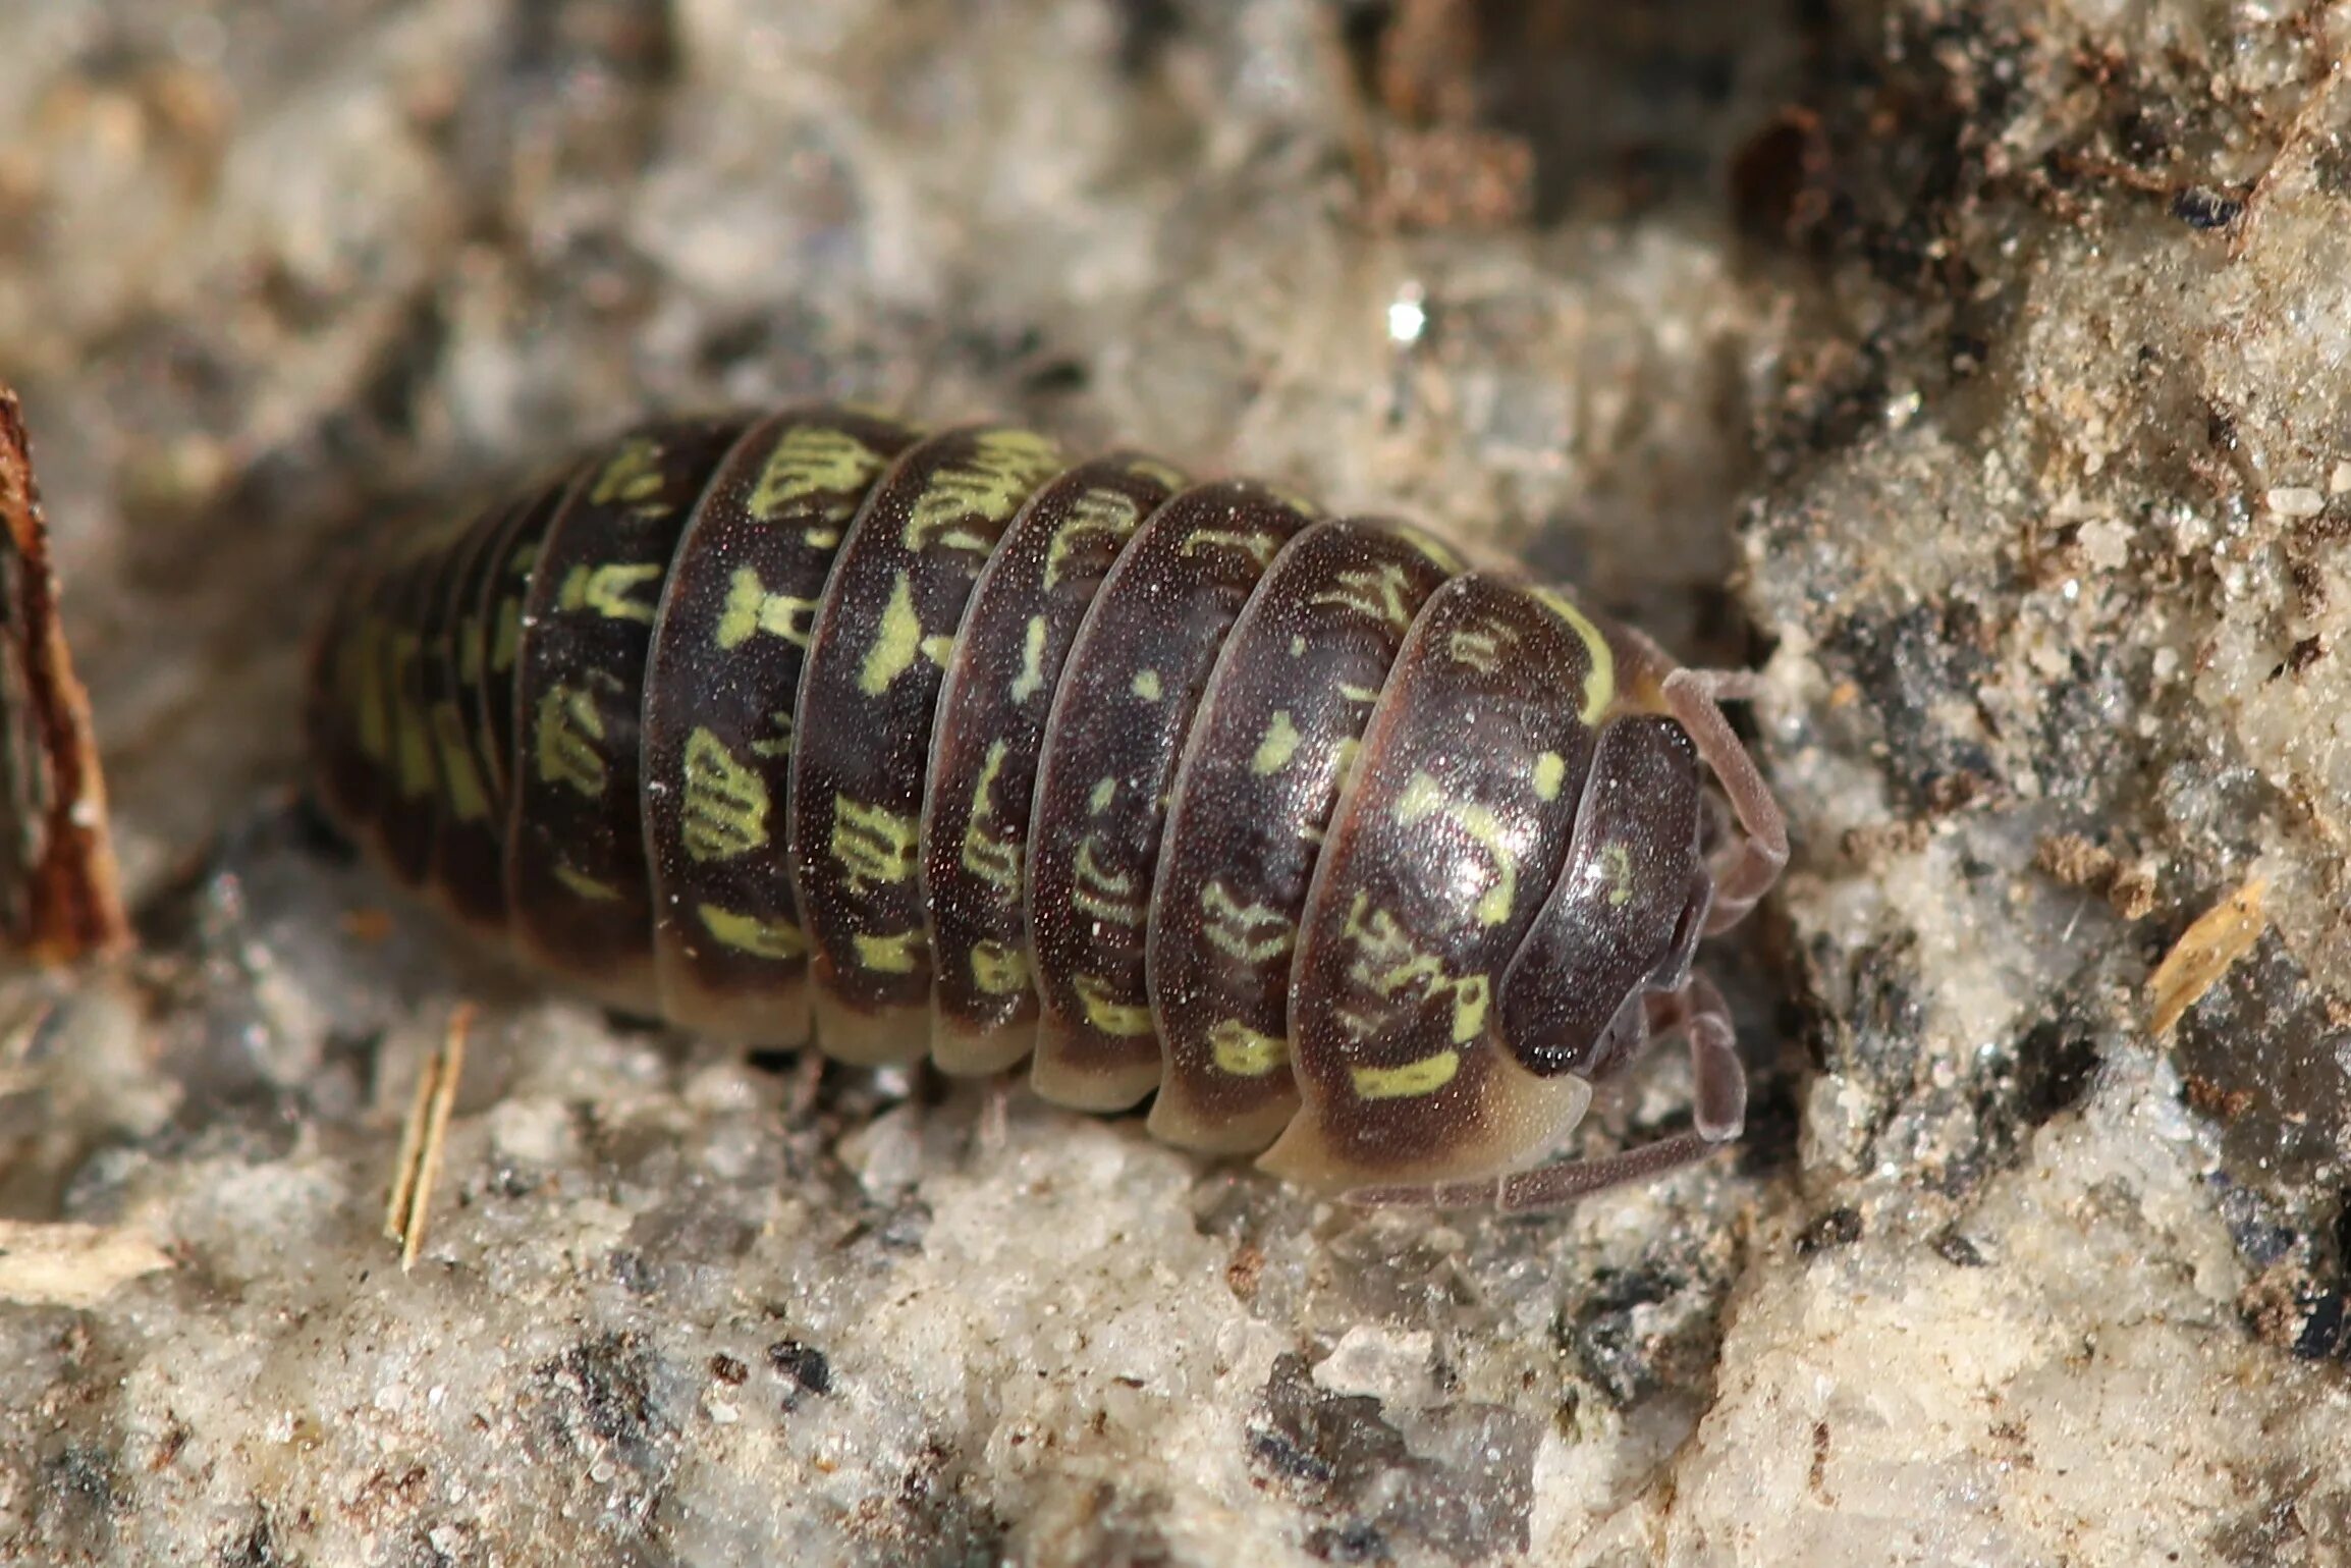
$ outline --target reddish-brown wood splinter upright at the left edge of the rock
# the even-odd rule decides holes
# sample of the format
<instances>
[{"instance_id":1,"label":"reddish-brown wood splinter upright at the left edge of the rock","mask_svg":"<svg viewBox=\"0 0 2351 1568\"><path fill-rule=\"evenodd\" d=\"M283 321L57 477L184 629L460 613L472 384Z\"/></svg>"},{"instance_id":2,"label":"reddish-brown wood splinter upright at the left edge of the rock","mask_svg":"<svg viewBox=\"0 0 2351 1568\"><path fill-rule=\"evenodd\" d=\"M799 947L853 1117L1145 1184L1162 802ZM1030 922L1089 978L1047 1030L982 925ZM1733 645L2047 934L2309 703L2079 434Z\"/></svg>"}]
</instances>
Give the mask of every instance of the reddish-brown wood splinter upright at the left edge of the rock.
<instances>
[{"instance_id":1,"label":"reddish-brown wood splinter upright at the left edge of the rock","mask_svg":"<svg viewBox=\"0 0 2351 1568\"><path fill-rule=\"evenodd\" d=\"M16 395L0 386L0 943L38 964L132 945L89 696L56 616L49 529Z\"/></svg>"}]
</instances>

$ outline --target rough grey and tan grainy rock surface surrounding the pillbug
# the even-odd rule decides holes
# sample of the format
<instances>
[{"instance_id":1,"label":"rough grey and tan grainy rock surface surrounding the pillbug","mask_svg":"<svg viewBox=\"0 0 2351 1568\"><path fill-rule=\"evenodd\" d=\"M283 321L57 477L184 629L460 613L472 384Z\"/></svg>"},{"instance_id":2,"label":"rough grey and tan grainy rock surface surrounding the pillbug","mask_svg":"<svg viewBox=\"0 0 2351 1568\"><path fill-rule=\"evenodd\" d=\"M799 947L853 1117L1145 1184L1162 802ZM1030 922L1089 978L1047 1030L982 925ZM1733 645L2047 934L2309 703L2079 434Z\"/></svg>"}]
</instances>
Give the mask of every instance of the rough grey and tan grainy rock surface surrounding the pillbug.
<instances>
[{"instance_id":1,"label":"rough grey and tan grainy rock surface surrounding the pillbug","mask_svg":"<svg viewBox=\"0 0 2351 1568\"><path fill-rule=\"evenodd\" d=\"M0 7L0 376L146 936L5 994L0 1561L2351 1561L2351 9L1476 9ZM292 804L341 543L804 395L1761 658L1742 1152L1366 1218L386 917Z\"/></svg>"}]
</instances>

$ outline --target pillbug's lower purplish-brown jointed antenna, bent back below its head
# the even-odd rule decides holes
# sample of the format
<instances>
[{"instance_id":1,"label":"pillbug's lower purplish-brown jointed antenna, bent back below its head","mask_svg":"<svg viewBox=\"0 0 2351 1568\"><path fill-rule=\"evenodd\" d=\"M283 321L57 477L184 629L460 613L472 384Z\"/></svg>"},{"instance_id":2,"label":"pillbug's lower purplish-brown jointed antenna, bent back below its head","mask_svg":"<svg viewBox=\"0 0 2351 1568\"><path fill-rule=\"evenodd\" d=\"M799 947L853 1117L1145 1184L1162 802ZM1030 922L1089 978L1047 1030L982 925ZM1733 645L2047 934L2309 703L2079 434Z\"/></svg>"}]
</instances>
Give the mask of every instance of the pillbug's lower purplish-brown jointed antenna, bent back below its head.
<instances>
[{"instance_id":1,"label":"pillbug's lower purplish-brown jointed antenna, bent back below its head","mask_svg":"<svg viewBox=\"0 0 2351 1568\"><path fill-rule=\"evenodd\" d=\"M1695 1121L1688 1133L1674 1133L1634 1150L1599 1159L1566 1159L1533 1171L1514 1171L1481 1182L1439 1182L1432 1187L1357 1187L1345 1194L1357 1208L1563 1208L1580 1197L1648 1180L1695 1159L1704 1159L1740 1135L1747 1124L1747 1070L1740 1065L1730 1009L1704 976L1648 999L1650 1041L1688 1037L1690 1077L1695 1079ZM1636 1053L1627 1053L1632 1060Z\"/></svg>"}]
</instances>

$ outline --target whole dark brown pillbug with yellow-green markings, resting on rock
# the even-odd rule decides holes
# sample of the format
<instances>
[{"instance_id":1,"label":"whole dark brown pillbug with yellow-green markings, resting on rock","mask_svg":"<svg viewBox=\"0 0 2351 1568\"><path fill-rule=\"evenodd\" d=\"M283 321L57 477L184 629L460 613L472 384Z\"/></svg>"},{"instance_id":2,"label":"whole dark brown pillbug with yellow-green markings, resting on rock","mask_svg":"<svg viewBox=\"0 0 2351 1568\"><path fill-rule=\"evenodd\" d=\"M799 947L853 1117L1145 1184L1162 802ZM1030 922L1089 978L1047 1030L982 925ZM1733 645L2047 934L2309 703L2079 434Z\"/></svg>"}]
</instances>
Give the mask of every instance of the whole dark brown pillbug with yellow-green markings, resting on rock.
<instances>
[{"instance_id":1,"label":"whole dark brown pillbug with yellow-green markings, resting on rock","mask_svg":"<svg viewBox=\"0 0 2351 1568\"><path fill-rule=\"evenodd\" d=\"M1690 964L1787 860L1747 686L1413 527L792 409L644 425L371 562L308 733L402 884L609 1006L1027 1058L1357 1201L1533 1208L1740 1131ZM1535 1164L1674 1034L1693 1131Z\"/></svg>"}]
</instances>

